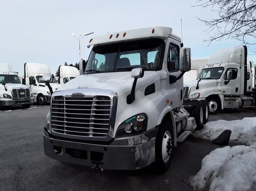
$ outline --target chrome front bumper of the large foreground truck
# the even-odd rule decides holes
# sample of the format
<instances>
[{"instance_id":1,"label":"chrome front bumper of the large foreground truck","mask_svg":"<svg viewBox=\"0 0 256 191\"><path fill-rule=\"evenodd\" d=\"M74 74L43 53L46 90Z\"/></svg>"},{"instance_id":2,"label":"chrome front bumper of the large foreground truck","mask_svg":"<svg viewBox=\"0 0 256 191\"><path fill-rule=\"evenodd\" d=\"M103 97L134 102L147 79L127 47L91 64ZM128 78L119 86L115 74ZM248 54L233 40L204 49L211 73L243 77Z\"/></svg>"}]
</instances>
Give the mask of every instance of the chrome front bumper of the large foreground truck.
<instances>
[{"instance_id":1,"label":"chrome front bumper of the large foreground truck","mask_svg":"<svg viewBox=\"0 0 256 191\"><path fill-rule=\"evenodd\" d=\"M157 129L153 129L137 137L115 139L107 145L61 140L44 128L44 154L63 162L102 169L140 169L155 161L156 134Z\"/></svg>"}]
</instances>

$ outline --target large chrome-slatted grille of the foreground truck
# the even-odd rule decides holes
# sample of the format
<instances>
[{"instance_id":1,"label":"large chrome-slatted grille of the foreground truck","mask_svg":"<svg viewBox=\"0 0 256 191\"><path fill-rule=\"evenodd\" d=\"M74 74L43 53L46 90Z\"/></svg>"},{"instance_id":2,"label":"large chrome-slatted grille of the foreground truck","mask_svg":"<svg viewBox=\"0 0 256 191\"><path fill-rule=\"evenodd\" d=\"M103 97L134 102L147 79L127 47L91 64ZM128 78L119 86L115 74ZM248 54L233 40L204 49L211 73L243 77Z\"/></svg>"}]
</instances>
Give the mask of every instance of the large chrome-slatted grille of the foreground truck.
<instances>
[{"instance_id":1,"label":"large chrome-slatted grille of the foreground truck","mask_svg":"<svg viewBox=\"0 0 256 191\"><path fill-rule=\"evenodd\" d=\"M107 137L110 105L108 96L54 96L51 104L52 131L71 136Z\"/></svg>"}]
</instances>

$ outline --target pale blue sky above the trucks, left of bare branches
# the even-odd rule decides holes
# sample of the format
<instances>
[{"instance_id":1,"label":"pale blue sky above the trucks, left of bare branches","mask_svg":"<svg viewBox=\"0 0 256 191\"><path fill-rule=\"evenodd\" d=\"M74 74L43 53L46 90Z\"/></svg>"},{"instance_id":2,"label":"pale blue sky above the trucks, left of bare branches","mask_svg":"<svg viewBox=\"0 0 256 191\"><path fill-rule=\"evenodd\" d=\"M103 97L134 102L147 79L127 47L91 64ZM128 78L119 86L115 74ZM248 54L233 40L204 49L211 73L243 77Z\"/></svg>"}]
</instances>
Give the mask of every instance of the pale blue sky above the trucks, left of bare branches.
<instances>
[{"instance_id":1,"label":"pale blue sky above the trucks, left of bare branches","mask_svg":"<svg viewBox=\"0 0 256 191\"><path fill-rule=\"evenodd\" d=\"M70 32L77 36L94 32L81 40L81 57L87 59L91 48L86 45L95 35L168 26L181 37L181 18L184 46L192 49L192 59L209 58L218 49L240 45L235 40L221 40L207 47L202 42L209 36L203 32L207 26L196 17L213 18L217 12L192 5L196 0L1 1L0 62L12 63L19 75L25 62L45 63L54 74L64 62L79 61L78 40Z\"/></svg>"}]
</instances>

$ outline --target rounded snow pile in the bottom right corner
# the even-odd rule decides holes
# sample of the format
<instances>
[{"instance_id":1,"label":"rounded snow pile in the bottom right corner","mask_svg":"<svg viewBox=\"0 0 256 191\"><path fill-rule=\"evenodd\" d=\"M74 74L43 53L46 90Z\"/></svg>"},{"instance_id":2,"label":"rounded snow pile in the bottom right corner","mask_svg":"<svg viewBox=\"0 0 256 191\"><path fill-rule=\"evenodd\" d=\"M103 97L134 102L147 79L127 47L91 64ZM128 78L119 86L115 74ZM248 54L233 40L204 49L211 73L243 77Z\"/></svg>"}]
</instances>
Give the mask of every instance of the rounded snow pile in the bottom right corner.
<instances>
[{"instance_id":1,"label":"rounded snow pile in the bottom right corner","mask_svg":"<svg viewBox=\"0 0 256 191\"><path fill-rule=\"evenodd\" d=\"M195 190L256 190L256 145L226 146L210 152L202 160L201 170L190 178Z\"/></svg>"}]
</instances>

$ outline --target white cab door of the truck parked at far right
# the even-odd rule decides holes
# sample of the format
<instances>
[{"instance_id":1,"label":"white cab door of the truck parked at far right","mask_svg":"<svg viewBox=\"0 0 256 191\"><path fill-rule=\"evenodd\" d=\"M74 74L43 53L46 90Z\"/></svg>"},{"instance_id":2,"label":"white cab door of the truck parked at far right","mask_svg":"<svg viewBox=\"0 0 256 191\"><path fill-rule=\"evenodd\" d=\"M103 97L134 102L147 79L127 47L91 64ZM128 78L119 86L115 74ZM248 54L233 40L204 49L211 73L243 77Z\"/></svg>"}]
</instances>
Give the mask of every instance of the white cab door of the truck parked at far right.
<instances>
[{"instance_id":1,"label":"white cab door of the truck parked at far right","mask_svg":"<svg viewBox=\"0 0 256 191\"><path fill-rule=\"evenodd\" d=\"M232 79L227 80L227 72L232 71ZM221 89L223 95L240 95L241 74L239 66L226 66L224 75L221 75Z\"/></svg>"}]
</instances>

